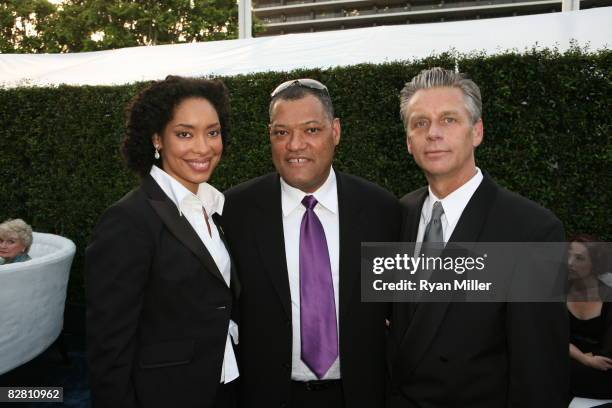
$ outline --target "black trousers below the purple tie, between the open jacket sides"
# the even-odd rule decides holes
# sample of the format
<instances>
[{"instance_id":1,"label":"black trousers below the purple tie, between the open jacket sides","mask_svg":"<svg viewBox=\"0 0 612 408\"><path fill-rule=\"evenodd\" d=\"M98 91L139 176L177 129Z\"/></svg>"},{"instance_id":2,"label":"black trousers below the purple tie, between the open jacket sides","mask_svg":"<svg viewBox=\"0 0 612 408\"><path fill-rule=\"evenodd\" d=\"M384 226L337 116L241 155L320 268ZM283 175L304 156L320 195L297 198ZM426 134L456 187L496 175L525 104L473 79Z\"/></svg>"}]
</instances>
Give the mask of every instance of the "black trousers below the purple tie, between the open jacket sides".
<instances>
[{"instance_id":1,"label":"black trousers below the purple tie, between the open jacket sides","mask_svg":"<svg viewBox=\"0 0 612 408\"><path fill-rule=\"evenodd\" d=\"M343 408L341 380L291 381L289 408Z\"/></svg>"}]
</instances>

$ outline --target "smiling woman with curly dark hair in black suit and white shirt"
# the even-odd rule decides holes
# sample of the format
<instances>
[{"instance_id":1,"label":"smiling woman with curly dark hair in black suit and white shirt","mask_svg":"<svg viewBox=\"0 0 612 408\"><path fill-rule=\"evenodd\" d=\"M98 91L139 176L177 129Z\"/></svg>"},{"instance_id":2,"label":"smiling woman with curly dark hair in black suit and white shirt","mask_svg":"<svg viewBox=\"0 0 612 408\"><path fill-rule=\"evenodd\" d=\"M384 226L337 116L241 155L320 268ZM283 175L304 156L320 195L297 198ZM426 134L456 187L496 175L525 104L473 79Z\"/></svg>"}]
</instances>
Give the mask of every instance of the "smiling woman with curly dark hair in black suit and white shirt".
<instances>
[{"instance_id":1,"label":"smiling woman with curly dark hair in black suit and white shirt","mask_svg":"<svg viewBox=\"0 0 612 408\"><path fill-rule=\"evenodd\" d=\"M85 254L93 407L236 405L239 284L207 183L229 136L216 80L169 76L126 109L123 154L141 185Z\"/></svg>"}]
</instances>

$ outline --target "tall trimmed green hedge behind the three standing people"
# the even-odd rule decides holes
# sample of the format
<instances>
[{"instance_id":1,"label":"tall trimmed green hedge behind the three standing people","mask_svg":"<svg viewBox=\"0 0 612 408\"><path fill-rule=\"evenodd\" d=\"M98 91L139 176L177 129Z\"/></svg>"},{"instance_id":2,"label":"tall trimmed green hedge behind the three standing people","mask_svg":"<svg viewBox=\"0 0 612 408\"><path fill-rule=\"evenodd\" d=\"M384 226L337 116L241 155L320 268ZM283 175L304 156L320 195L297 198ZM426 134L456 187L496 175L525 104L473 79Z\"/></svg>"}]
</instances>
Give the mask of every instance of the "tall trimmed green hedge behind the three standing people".
<instances>
[{"instance_id":1,"label":"tall trimmed green hedge behind the three standing people","mask_svg":"<svg viewBox=\"0 0 612 408\"><path fill-rule=\"evenodd\" d=\"M553 210L568 233L610 240L610 50L442 54L224 78L232 96L232 140L212 183L223 190L273 169L269 92L286 79L313 77L329 87L342 121L336 168L401 196L425 180L406 152L399 90L423 68L455 64L483 94L485 140L478 165ZM83 300L83 251L93 226L137 184L123 167L118 145L123 107L143 85L0 90L0 220L21 217L37 231L77 244L69 292L75 302Z\"/></svg>"}]
</instances>

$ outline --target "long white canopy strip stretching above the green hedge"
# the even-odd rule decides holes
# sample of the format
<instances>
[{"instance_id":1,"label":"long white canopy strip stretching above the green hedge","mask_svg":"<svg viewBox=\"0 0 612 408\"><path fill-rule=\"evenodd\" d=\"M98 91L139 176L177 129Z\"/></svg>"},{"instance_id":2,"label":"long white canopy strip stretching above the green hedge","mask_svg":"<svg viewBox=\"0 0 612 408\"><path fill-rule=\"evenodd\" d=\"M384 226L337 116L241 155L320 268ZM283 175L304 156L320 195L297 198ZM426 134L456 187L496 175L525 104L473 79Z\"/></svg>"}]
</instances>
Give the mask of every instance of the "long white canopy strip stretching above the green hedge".
<instances>
[{"instance_id":1,"label":"long white canopy strip stretching above the green hedge","mask_svg":"<svg viewBox=\"0 0 612 408\"><path fill-rule=\"evenodd\" d=\"M0 54L0 84L112 85L185 76L326 68L532 47L591 50L612 41L612 7L461 22L380 26L77 54Z\"/></svg>"}]
</instances>

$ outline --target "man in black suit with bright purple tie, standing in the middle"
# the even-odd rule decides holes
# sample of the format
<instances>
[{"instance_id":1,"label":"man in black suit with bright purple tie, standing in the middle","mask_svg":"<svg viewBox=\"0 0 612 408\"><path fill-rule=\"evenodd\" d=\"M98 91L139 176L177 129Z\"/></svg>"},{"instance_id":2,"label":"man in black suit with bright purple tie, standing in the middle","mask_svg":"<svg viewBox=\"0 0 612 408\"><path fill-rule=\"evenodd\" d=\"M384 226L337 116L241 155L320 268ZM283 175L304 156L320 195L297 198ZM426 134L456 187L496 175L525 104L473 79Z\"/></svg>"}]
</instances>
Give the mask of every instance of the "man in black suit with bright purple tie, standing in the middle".
<instances>
[{"instance_id":1,"label":"man in black suit with bright purple tie, standing in the middle","mask_svg":"<svg viewBox=\"0 0 612 408\"><path fill-rule=\"evenodd\" d=\"M332 168L340 120L325 85L271 94L277 172L226 192L224 228L241 277L241 407L382 408L385 318L362 303L361 242L397 241L382 188Z\"/></svg>"}]
</instances>

